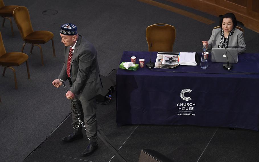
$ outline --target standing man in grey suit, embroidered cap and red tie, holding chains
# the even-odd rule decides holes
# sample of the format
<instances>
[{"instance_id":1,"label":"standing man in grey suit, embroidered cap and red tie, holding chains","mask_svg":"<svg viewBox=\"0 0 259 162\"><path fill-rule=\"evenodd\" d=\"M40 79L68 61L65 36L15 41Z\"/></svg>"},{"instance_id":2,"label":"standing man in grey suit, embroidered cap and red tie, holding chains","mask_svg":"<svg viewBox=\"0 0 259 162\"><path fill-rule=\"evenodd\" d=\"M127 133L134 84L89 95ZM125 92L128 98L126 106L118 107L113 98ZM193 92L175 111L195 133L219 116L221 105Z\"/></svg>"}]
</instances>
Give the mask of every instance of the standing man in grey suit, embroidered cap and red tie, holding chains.
<instances>
[{"instance_id":1,"label":"standing man in grey suit, embroidered cap and red tie, holding chains","mask_svg":"<svg viewBox=\"0 0 259 162\"><path fill-rule=\"evenodd\" d=\"M89 144L81 153L82 156L87 156L98 147L95 96L100 94L102 82L96 50L89 41L77 34L77 27L71 23L61 26L60 36L61 42L65 45L65 61L58 79L55 79L52 84L59 88L62 85L61 81L69 81L71 88L65 96L69 100L74 99L78 116L87 128ZM71 111L74 132L62 138L65 142L83 138L82 125L80 125L73 104L71 104Z\"/></svg>"}]
</instances>

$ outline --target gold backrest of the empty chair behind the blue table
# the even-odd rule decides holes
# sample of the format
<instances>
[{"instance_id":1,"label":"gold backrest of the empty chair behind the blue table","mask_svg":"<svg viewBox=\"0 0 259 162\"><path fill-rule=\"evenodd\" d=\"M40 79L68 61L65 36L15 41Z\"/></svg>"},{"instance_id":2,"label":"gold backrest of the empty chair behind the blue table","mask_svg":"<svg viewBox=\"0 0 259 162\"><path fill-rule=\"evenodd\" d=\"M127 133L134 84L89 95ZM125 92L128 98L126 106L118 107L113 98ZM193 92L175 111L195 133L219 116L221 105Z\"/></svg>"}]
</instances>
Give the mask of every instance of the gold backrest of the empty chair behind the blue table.
<instances>
[{"instance_id":1,"label":"gold backrest of the empty chair behind the blue table","mask_svg":"<svg viewBox=\"0 0 259 162\"><path fill-rule=\"evenodd\" d=\"M172 52L176 31L172 25L154 24L146 29L148 50L152 43L151 51Z\"/></svg>"}]
</instances>

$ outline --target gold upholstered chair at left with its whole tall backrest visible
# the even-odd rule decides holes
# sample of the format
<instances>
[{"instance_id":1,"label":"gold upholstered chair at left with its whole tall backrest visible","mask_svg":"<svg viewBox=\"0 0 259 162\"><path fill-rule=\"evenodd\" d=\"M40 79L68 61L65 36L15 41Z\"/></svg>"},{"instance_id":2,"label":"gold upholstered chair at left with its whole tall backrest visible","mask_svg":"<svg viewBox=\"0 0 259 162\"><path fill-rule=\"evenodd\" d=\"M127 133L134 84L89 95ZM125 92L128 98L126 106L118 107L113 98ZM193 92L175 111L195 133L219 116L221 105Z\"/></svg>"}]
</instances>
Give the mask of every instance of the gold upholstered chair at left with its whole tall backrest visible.
<instances>
[{"instance_id":1,"label":"gold upholstered chair at left with its whole tall backrest visible","mask_svg":"<svg viewBox=\"0 0 259 162\"><path fill-rule=\"evenodd\" d=\"M54 34L50 31L33 31L30 21L30 14L26 7L17 7L13 11L13 18L15 19L22 39L24 40L22 45L22 52L26 43L32 44L30 53L32 53L32 48L34 45L38 46L40 48L41 63L44 65L42 48L39 44L44 44L49 40L52 40L53 56L56 56L53 42Z\"/></svg>"}]
</instances>

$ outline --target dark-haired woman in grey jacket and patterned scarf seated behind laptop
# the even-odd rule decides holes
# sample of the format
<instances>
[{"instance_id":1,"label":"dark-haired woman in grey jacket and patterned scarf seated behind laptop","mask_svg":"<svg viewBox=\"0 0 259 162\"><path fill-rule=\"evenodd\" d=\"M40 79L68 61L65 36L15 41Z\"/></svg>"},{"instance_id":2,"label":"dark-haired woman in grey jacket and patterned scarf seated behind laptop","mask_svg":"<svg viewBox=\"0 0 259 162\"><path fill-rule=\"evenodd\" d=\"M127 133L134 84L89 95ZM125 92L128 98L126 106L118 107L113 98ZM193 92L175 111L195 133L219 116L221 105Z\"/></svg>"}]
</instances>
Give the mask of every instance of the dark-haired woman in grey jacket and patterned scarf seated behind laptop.
<instances>
[{"instance_id":1,"label":"dark-haired woman in grey jacket and patterned scarf seated behind laptop","mask_svg":"<svg viewBox=\"0 0 259 162\"><path fill-rule=\"evenodd\" d=\"M208 41L202 41L207 50L211 50L211 48L237 48L238 54L246 52L243 32L236 28L235 15L226 13L220 18L219 25L220 28L212 30Z\"/></svg>"}]
</instances>

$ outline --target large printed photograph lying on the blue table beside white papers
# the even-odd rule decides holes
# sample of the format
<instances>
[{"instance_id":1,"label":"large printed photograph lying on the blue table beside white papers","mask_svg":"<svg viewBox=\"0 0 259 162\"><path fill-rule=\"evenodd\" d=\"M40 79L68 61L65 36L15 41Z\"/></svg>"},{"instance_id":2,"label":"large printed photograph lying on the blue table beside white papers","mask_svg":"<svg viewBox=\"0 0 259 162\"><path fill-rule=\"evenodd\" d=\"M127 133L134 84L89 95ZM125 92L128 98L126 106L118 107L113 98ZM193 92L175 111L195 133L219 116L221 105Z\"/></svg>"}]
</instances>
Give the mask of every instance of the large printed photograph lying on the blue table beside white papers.
<instances>
[{"instance_id":1,"label":"large printed photograph lying on the blue table beside white papers","mask_svg":"<svg viewBox=\"0 0 259 162\"><path fill-rule=\"evenodd\" d=\"M174 68L179 65L179 52L157 52L155 68Z\"/></svg>"}]
</instances>

